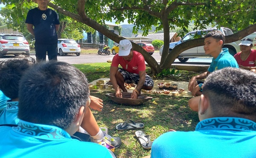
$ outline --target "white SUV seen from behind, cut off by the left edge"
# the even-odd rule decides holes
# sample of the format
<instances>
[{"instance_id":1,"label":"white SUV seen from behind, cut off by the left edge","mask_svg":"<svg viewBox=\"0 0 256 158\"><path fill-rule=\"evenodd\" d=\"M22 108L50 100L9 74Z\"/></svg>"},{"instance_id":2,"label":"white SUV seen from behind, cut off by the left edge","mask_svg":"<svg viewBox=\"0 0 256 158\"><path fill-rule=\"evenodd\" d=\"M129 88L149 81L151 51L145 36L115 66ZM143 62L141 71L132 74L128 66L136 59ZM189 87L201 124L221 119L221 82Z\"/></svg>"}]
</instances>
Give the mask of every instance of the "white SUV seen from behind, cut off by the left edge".
<instances>
[{"instance_id":1,"label":"white SUV seen from behind, cut off by the left edge","mask_svg":"<svg viewBox=\"0 0 256 158\"><path fill-rule=\"evenodd\" d=\"M21 34L0 33L0 58L7 54L29 56L29 42Z\"/></svg>"}]
</instances>

